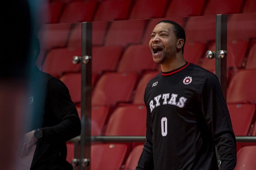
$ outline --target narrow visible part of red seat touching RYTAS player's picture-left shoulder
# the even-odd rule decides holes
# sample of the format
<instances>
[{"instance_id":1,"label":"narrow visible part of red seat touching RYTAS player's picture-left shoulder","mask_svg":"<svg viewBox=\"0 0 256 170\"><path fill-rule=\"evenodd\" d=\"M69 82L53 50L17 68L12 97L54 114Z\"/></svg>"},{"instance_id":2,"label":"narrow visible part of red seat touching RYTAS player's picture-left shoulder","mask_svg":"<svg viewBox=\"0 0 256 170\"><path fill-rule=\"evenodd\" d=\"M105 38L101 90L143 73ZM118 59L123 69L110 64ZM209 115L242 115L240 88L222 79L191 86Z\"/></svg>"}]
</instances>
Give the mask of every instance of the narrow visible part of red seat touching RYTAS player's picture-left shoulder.
<instances>
[{"instance_id":1,"label":"narrow visible part of red seat touching RYTAS player's picture-left shoulder","mask_svg":"<svg viewBox=\"0 0 256 170\"><path fill-rule=\"evenodd\" d=\"M146 73L139 81L139 84L136 88L134 98L133 98L133 104L136 105L144 105L144 92L146 89L146 85L148 81L150 81L152 78L154 78L159 71L149 72Z\"/></svg>"}]
</instances>

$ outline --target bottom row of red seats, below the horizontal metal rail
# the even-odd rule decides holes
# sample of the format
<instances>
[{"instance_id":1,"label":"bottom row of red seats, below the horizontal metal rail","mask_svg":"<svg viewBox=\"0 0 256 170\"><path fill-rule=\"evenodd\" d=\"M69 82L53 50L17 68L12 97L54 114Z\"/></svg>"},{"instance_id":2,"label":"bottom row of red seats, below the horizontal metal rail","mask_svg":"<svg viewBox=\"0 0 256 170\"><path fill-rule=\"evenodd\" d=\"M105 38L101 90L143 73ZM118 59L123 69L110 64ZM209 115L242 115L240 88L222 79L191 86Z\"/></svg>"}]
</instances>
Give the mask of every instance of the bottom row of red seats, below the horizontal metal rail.
<instances>
[{"instance_id":1,"label":"bottom row of red seats, below the horizontal metal rail","mask_svg":"<svg viewBox=\"0 0 256 170\"><path fill-rule=\"evenodd\" d=\"M67 143L68 157L67 161L71 162L74 157L72 143ZM91 146L91 169L124 169L132 170L138 165L138 161L143 149L143 145L137 145L129 153L127 159L127 145L125 144L92 144ZM237 152L237 165L235 170L254 170L256 146L244 146ZM123 165L123 166L122 166Z\"/></svg>"}]
</instances>

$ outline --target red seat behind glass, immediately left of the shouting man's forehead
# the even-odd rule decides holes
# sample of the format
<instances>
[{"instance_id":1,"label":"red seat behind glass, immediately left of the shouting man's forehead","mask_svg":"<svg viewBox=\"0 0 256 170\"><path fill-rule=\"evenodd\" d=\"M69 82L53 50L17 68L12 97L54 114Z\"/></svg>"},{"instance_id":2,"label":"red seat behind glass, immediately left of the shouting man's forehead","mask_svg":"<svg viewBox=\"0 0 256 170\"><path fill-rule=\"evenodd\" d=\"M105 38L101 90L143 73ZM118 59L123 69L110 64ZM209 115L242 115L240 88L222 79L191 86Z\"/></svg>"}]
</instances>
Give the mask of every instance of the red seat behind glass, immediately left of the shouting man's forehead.
<instances>
[{"instance_id":1,"label":"red seat behind glass, immediately left of the shouting man's forehead","mask_svg":"<svg viewBox=\"0 0 256 170\"><path fill-rule=\"evenodd\" d=\"M123 20L111 23L105 38L105 45L122 45L141 43L146 20Z\"/></svg>"}]
</instances>

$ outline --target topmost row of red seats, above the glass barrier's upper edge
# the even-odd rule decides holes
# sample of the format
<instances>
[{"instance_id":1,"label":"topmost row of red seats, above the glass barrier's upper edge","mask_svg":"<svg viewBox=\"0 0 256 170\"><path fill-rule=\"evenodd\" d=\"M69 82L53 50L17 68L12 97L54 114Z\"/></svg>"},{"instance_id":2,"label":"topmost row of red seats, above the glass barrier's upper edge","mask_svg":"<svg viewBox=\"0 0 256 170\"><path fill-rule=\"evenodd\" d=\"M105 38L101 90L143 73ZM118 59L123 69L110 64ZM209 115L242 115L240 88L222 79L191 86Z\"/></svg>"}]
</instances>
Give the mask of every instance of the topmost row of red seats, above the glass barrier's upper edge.
<instances>
[{"instance_id":1,"label":"topmost row of red seats, above the glass barrier's upper edge","mask_svg":"<svg viewBox=\"0 0 256 170\"><path fill-rule=\"evenodd\" d=\"M218 4L218 7L216 6ZM256 12L254 0L55 0L45 4L47 23L112 21ZM213 8L213 6L216 6Z\"/></svg>"}]
</instances>

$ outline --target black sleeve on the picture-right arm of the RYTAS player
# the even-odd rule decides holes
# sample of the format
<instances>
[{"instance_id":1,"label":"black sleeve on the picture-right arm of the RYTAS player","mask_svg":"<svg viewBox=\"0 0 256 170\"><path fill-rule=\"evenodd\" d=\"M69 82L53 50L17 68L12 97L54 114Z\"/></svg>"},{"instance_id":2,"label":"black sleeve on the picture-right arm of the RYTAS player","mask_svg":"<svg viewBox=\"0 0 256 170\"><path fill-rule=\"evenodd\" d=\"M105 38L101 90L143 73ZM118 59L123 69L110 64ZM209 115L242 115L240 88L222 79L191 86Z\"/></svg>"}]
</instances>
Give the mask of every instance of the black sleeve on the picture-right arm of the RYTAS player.
<instances>
[{"instance_id":1,"label":"black sleeve on the picture-right arm of the RYTAS player","mask_svg":"<svg viewBox=\"0 0 256 170\"><path fill-rule=\"evenodd\" d=\"M206 76L199 101L220 155L221 169L234 169L237 161L236 138L218 78L214 74L208 73Z\"/></svg>"}]
</instances>

